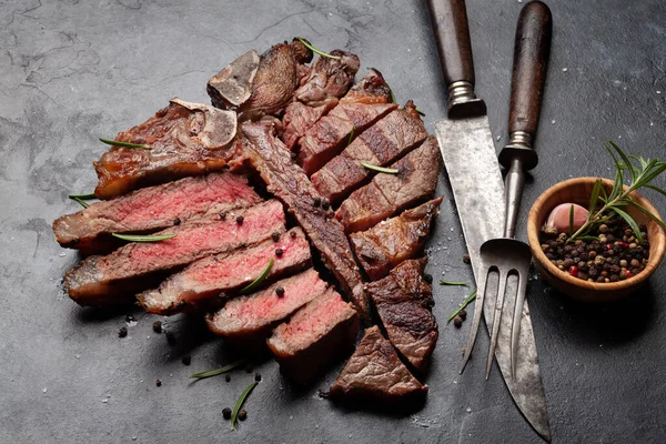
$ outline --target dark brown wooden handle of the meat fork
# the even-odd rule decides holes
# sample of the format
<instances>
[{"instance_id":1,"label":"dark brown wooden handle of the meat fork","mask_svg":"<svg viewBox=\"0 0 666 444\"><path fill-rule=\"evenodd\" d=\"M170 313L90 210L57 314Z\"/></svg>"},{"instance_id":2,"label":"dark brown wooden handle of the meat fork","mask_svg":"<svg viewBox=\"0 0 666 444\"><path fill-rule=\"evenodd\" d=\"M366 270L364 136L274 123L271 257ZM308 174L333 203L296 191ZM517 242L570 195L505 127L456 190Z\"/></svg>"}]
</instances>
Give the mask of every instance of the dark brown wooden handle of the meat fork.
<instances>
[{"instance_id":1,"label":"dark brown wooden handle of the meat fork","mask_svg":"<svg viewBox=\"0 0 666 444\"><path fill-rule=\"evenodd\" d=\"M518 16L516 29L508 133L527 133L529 145L538 124L552 33L548 7L541 1L527 3Z\"/></svg>"}]
</instances>

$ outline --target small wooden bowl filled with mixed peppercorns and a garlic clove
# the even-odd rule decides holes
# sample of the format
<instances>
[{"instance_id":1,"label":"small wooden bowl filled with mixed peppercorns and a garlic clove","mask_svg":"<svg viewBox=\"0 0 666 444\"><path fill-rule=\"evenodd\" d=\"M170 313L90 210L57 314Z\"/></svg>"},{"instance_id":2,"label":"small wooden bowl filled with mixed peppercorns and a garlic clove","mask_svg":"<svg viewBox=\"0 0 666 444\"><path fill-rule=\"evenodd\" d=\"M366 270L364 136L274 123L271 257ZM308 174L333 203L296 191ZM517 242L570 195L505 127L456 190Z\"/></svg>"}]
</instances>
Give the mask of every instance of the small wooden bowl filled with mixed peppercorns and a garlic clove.
<instances>
[{"instance_id":1,"label":"small wooden bowl filled with mixed peppercorns and a garlic clove","mask_svg":"<svg viewBox=\"0 0 666 444\"><path fill-rule=\"evenodd\" d=\"M628 205L620 211L636 222L634 229L615 214L571 241L581 213L589 206L596 178L577 178L546 190L529 211L527 238L536 269L556 290L581 301L608 302L634 293L654 273L664 259L666 234L657 222ZM609 194L613 181L601 183ZM637 192L629 195L659 218L647 199ZM569 212L571 204L581 206ZM552 214L563 206L563 214Z\"/></svg>"}]
</instances>

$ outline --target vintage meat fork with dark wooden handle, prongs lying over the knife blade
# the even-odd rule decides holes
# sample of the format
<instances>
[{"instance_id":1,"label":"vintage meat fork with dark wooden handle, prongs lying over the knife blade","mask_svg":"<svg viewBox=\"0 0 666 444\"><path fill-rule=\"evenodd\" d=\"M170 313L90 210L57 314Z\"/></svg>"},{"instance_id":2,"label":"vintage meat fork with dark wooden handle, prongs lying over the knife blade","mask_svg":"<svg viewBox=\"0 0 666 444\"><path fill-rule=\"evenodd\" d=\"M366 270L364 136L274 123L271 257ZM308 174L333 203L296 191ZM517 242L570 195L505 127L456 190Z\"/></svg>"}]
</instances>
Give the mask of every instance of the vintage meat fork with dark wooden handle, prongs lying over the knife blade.
<instances>
[{"instance_id":1,"label":"vintage meat fork with dark wooden handle, prongs lying over the knife blade","mask_svg":"<svg viewBox=\"0 0 666 444\"><path fill-rule=\"evenodd\" d=\"M548 8L541 1L526 4L518 17L514 46L514 64L511 81L511 104L508 117L509 142L500 153L500 163L508 170L505 179L505 219L504 238L491 239L481 245L478 292L474 304L472 331L463 359L461 373L465 370L476 341L483 313L488 275L498 274L497 297L493 319L487 320L491 329L491 349L486 362L486 380L491 374L493 355L500 336L502 311L506 297L506 282L509 276L518 279L517 292L511 332L511 373L515 379L517 347L523 303L527 290L527 276L532 253L529 246L514 239L525 171L538 163L532 140L538 125L541 103L546 80L548 56L551 51L552 18Z\"/></svg>"}]
</instances>

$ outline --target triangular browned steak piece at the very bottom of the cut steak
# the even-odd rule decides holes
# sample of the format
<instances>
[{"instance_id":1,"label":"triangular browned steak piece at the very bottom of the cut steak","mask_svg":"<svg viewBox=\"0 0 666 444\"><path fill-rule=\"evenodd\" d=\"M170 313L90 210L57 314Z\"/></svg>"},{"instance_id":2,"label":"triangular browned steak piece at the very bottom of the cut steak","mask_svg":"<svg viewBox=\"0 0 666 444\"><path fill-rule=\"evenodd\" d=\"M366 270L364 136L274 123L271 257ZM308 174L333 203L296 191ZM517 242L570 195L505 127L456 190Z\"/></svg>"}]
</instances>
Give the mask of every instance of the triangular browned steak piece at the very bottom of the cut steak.
<instances>
[{"instance_id":1,"label":"triangular browned steak piece at the very bottom of the cut steak","mask_svg":"<svg viewBox=\"0 0 666 444\"><path fill-rule=\"evenodd\" d=\"M351 403L374 403L380 408L408 408L425 402L427 385L410 373L375 325L365 331L329 395Z\"/></svg>"}]
</instances>

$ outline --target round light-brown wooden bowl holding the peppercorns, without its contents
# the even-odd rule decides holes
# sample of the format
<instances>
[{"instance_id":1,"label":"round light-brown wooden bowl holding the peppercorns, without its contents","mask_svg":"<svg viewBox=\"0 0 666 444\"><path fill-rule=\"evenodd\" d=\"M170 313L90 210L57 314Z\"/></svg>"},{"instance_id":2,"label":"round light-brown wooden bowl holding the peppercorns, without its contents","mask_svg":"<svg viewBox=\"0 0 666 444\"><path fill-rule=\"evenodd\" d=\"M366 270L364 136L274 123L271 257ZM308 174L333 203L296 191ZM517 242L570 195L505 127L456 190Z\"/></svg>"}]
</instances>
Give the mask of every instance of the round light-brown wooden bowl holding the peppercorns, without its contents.
<instances>
[{"instance_id":1,"label":"round light-brown wooden bowl holding the peppercorns, without its contents","mask_svg":"<svg viewBox=\"0 0 666 444\"><path fill-rule=\"evenodd\" d=\"M527 219L527 238L529 248L534 258L534 264L542 276L559 292L571 295L574 299L586 302L608 302L622 299L636 291L650 274L657 269L664 259L666 249L666 234L658 223L649 219L634 206L625 208L638 223L647 225L647 236L649 240L649 259L643 270L637 275L624 281L596 283L574 278L567 272L555 266L546 254L542 251L539 242L541 229L551 211L561 203L577 203L584 208L589 206L589 195L596 178L577 178L559 182L547 189L532 205L529 218ZM606 192L610 192L613 182L604 179L603 184ZM626 186L625 186L626 189ZM659 216L652 203L637 192L632 193L632 198ZM659 216L660 219L660 216Z\"/></svg>"}]
</instances>

